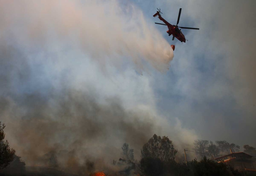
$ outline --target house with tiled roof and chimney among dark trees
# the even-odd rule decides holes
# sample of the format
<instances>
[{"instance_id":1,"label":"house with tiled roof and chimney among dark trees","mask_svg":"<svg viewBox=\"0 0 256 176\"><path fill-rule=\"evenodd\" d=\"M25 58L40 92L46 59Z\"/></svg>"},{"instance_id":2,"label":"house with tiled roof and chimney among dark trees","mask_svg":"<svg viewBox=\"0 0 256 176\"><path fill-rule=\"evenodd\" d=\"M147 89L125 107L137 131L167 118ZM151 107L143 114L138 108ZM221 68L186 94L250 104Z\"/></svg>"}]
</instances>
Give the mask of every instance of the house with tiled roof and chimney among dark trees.
<instances>
[{"instance_id":1,"label":"house with tiled roof and chimney among dark trees","mask_svg":"<svg viewBox=\"0 0 256 176\"><path fill-rule=\"evenodd\" d=\"M256 162L252 160L252 156L244 152L232 152L230 154L214 159L216 162L226 163L238 170L256 171Z\"/></svg>"}]
</instances>

